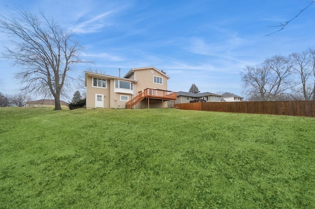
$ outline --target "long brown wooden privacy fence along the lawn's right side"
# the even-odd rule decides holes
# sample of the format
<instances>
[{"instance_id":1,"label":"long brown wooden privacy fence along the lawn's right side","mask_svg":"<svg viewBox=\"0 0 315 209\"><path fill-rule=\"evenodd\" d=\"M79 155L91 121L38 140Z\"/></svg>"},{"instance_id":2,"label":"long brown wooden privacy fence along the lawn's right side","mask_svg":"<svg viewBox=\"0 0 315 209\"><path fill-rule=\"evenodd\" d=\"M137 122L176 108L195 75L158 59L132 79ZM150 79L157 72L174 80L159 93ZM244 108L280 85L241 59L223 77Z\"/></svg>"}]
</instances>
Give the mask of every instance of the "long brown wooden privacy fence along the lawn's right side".
<instances>
[{"instance_id":1,"label":"long brown wooden privacy fence along the lawn's right side","mask_svg":"<svg viewBox=\"0 0 315 209\"><path fill-rule=\"evenodd\" d=\"M315 117L315 101L218 102L175 104L179 109Z\"/></svg>"}]
</instances>

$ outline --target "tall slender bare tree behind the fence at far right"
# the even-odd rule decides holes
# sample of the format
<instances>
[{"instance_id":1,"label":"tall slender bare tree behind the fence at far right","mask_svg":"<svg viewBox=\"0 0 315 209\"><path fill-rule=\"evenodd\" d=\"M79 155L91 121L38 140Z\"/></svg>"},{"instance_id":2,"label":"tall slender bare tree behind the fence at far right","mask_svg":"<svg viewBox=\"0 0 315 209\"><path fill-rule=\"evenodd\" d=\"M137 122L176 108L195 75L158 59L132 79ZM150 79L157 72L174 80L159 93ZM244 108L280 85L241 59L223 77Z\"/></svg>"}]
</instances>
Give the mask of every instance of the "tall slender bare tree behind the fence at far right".
<instances>
[{"instance_id":1,"label":"tall slender bare tree behind the fence at far right","mask_svg":"<svg viewBox=\"0 0 315 209\"><path fill-rule=\"evenodd\" d=\"M309 51L304 52L295 52L290 55L290 58L293 59L294 65L292 67L293 73L299 77L301 82L301 93L304 97L304 100L310 100L312 96L312 91L308 86L309 78L312 76L311 71L311 57ZM295 90L298 91L298 90Z\"/></svg>"}]
</instances>

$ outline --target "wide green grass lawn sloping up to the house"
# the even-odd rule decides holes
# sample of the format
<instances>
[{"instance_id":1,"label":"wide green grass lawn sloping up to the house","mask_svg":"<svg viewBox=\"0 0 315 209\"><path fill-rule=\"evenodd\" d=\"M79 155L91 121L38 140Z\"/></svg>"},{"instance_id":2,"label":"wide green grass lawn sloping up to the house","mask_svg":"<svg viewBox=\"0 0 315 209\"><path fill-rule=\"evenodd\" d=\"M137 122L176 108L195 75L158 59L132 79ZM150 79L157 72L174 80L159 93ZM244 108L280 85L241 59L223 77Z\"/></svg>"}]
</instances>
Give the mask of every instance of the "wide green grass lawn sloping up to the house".
<instances>
[{"instance_id":1,"label":"wide green grass lawn sloping up to the house","mask_svg":"<svg viewBox=\"0 0 315 209\"><path fill-rule=\"evenodd\" d=\"M315 208L315 118L0 108L0 208Z\"/></svg>"}]
</instances>

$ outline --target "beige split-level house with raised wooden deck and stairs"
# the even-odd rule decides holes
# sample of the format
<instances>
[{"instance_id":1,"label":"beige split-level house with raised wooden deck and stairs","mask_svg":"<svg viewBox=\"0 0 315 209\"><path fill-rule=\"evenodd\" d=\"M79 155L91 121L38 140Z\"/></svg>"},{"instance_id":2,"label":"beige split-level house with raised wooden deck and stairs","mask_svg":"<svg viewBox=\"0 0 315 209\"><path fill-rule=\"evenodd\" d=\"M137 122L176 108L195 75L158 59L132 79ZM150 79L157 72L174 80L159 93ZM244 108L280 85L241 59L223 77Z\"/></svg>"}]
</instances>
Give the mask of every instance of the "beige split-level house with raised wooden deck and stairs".
<instances>
[{"instance_id":1,"label":"beige split-level house with raised wooden deck and stairs","mask_svg":"<svg viewBox=\"0 0 315 209\"><path fill-rule=\"evenodd\" d=\"M123 78L85 72L87 108L162 108L174 101L165 72L155 67L133 68Z\"/></svg>"}]
</instances>

